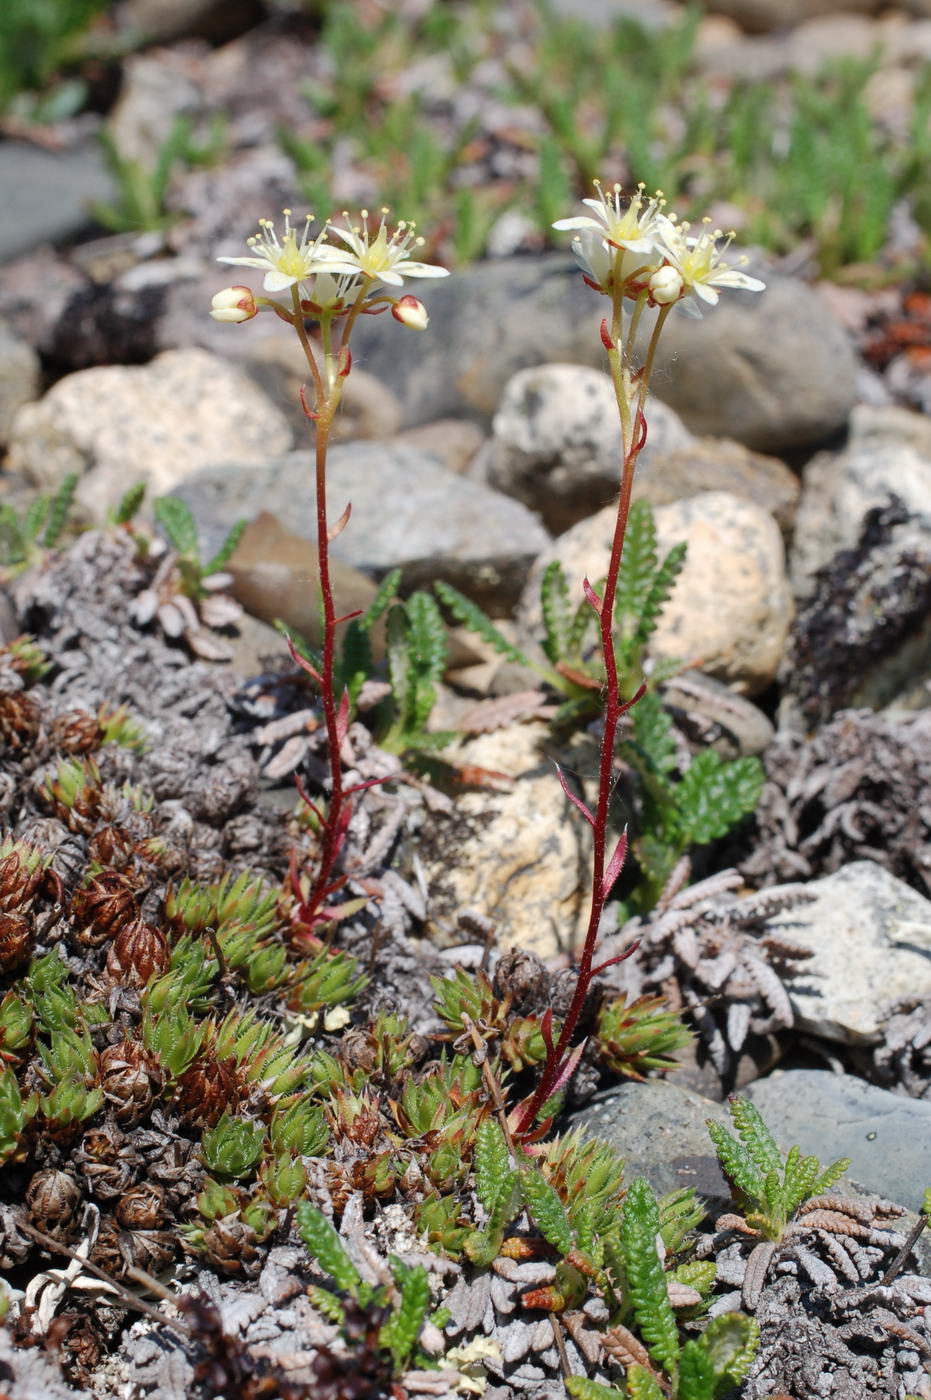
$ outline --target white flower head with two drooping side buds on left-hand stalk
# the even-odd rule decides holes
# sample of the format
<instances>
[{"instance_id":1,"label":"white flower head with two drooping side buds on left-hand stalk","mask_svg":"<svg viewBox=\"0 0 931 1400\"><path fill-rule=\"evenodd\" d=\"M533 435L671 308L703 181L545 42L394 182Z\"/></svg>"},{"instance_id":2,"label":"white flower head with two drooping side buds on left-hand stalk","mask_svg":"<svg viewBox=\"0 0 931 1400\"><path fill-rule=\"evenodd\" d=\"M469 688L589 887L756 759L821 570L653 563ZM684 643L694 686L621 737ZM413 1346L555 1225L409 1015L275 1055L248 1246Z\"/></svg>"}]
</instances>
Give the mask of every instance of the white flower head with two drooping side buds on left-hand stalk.
<instances>
[{"instance_id":1,"label":"white flower head with two drooping side buds on left-hand stalk","mask_svg":"<svg viewBox=\"0 0 931 1400\"><path fill-rule=\"evenodd\" d=\"M405 277L445 277L447 269L417 262L412 253L423 246L413 224L399 223L391 231L386 210L381 211L377 228L368 224L368 210L361 211L358 224L343 213L344 225L325 223L312 234L314 216L308 214L304 228L291 223L291 210L284 210L284 230L279 231L270 218L259 221L259 232L248 239L248 258L218 258L217 262L235 267L255 267L265 273L267 293L298 288L301 307L316 316L343 315L353 307L384 309L391 305L403 325L416 330L427 326L427 314L416 297L375 297L379 287L402 287ZM337 242L332 242L337 239ZM253 297L248 287L225 287L213 298L210 315L217 321L249 321L262 309L279 309L266 297Z\"/></svg>"}]
</instances>

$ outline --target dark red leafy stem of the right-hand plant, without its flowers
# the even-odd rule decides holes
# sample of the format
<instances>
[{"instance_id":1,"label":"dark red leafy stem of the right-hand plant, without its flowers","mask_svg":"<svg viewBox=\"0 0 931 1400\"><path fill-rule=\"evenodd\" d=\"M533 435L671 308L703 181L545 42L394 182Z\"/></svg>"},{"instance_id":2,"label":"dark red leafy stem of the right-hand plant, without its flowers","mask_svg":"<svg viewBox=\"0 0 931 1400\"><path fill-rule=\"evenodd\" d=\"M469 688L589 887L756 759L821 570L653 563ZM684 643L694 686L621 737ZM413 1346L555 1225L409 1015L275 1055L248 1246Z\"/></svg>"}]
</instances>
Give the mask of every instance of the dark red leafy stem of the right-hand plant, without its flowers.
<instances>
[{"instance_id":1,"label":"dark red leafy stem of the right-hand plant, without its flowers","mask_svg":"<svg viewBox=\"0 0 931 1400\"><path fill-rule=\"evenodd\" d=\"M620 259L617 259L620 265ZM613 777L615 777L615 746L617 742L617 728L623 715L630 710L633 704L640 700L644 693L644 686L641 686L637 693L630 700L622 700L620 697L620 682L617 676L617 658L615 654L615 595L617 591L617 577L620 573L620 560L624 550L624 538L627 533L627 521L630 518L630 503L633 498L634 489L634 475L637 469L637 458L640 456L644 444L647 441L647 420L644 416L644 402L647 398L647 389L650 385L650 374L652 371L652 364L655 358L657 344L659 342L659 335L665 323L669 307L662 307L657 316L657 323L650 339L650 346L644 360L644 365L640 371L633 372L630 370L630 356L634 349L634 335L643 308L645 305L645 295L641 294L637 298L627 340L624 344L623 337L623 284L617 287L613 301L613 318L610 333L606 333L606 328L602 329L602 343L608 349L608 361L610 365L612 382L615 386L615 396L617 399L617 413L620 417L622 428L622 445L623 445L623 466L620 476L620 494L617 497L617 514L615 517L615 531L612 536L610 546L610 561L608 566L608 578L605 581L603 595L599 598L598 594L591 588L588 580L584 584L585 598L588 599L591 608L598 616L598 627L601 634L602 657L605 664L605 711L603 711L603 727L601 738L601 753L598 762L598 802L595 806L594 818L581 802L578 802L571 792L566 788L564 780L560 774L560 781L563 781L564 791L570 795L571 801L582 811L582 815L592 826L592 893L591 904L588 911L588 925L585 928L585 939L582 942L581 956L578 960L578 979L575 981L575 991L570 1002L570 1008L566 1014L563 1028L556 1044L547 1044L546 1060L543 1063L543 1070L540 1074L539 1084L533 1093L518 1105L512 1119L512 1131L515 1138L525 1140L533 1133L533 1126L536 1117L543 1107L543 1105L553 1098L553 1095L561 1088L568 1079L571 1068L574 1068L573 1057L580 1047L571 1050L573 1036L575 1028L582 1014L582 1008L588 998L591 990L592 979L595 973L608 963L602 963L601 967L595 967L595 946L598 944L598 928L601 925L601 917L605 911L605 904L608 903L608 896L610 895L610 888L620 875L623 868L623 860L626 854L626 843L622 837L622 844L617 846L615 855L608 862L608 818L610 809L610 795L613 791ZM610 878L606 878L606 876ZM630 958L638 948L634 942L627 948L619 958L610 959L610 962L623 962Z\"/></svg>"}]
</instances>

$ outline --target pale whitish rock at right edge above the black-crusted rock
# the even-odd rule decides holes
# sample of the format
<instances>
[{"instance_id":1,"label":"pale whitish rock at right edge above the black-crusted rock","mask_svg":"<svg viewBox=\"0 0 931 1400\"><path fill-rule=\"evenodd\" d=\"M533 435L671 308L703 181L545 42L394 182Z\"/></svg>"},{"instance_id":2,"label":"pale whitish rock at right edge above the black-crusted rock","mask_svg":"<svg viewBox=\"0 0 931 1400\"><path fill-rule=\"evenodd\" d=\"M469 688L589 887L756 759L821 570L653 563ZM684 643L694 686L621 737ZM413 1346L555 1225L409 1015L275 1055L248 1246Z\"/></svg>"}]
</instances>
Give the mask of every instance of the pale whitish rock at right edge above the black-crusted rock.
<instances>
[{"instance_id":1,"label":"pale whitish rock at right edge above the black-crusted rock","mask_svg":"<svg viewBox=\"0 0 931 1400\"><path fill-rule=\"evenodd\" d=\"M900 438L855 434L846 451L812 458L790 554L797 598L812 591L819 568L858 543L867 514L892 498L902 501L910 528L931 535L931 455Z\"/></svg>"}]
</instances>

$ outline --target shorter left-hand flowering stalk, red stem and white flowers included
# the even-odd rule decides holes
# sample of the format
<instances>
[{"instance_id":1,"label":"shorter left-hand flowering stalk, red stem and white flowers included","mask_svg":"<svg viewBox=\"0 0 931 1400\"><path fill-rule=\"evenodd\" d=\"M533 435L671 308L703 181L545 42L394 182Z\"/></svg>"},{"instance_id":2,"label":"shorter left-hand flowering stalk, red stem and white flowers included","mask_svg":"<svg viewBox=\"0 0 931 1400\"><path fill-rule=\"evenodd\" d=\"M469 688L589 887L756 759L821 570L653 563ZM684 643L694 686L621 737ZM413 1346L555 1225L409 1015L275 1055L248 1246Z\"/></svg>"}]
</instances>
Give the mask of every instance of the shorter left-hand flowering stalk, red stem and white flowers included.
<instances>
[{"instance_id":1,"label":"shorter left-hand flowering stalk, red stem and white flowers included","mask_svg":"<svg viewBox=\"0 0 931 1400\"><path fill-rule=\"evenodd\" d=\"M381 781L375 778L351 787L344 785L342 749L349 731L349 693L336 694L336 629L340 623L358 616L357 612L337 616L329 559L332 540L349 524L351 504L346 505L333 526L329 524L326 508L326 454L343 385L353 364L350 336L360 315L374 315L388 307L402 325L424 330L427 312L416 297L396 298L377 295L377 291L382 284L403 286L405 277L447 276L444 267L420 263L409 256L423 242L414 237L412 225L402 223L392 234L382 211L378 228L370 234L367 220L368 214L363 210L361 225L326 224L314 238L309 216L304 230L298 232L291 225L291 211L284 210L281 238L270 220L262 220L259 234L249 239L251 255L221 258L220 262L259 269L265 273L265 291L290 291L290 307L267 297L253 298L246 287L230 287L217 293L211 308L211 315L217 321L242 322L266 309L287 321L301 342L314 385L312 406L304 389L301 405L315 434L316 554L323 610L319 671L290 644L295 664L314 678L321 692L330 778L330 795L325 812L312 801L300 778L297 781L301 799L316 818L321 841L319 864L308 890L302 888L295 862L291 865L291 888L298 900L295 923L301 935L311 939L318 925L332 923L357 909L354 903L332 906L330 900L349 878L346 874L337 874L337 865L351 819L351 798L372 783ZM330 235L339 242L329 242ZM307 319L316 321L319 326L319 358L307 332Z\"/></svg>"}]
</instances>

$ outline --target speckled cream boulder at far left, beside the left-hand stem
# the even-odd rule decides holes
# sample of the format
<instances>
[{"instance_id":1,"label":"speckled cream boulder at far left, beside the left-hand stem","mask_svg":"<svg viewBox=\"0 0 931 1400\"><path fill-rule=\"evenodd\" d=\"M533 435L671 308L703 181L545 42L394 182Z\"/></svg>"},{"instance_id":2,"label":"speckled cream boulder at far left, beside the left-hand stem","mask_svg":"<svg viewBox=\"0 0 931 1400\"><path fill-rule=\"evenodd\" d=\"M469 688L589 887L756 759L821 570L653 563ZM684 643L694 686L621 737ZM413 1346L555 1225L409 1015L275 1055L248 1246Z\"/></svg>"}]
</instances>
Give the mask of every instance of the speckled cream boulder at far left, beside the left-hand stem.
<instances>
[{"instance_id":1,"label":"speckled cream boulder at far left, beside the left-hand stem","mask_svg":"<svg viewBox=\"0 0 931 1400\"><path fill-rule=\"evenodd\" d=\"M286 419L239 370L206 350L169 350L59 379L17 413L10 468L46 490L81 473L78 504L101 519L134 482L162 494L211 462L266 461L290 445Z\"/></svg>"}]
</instances>

